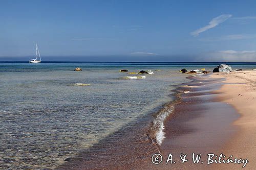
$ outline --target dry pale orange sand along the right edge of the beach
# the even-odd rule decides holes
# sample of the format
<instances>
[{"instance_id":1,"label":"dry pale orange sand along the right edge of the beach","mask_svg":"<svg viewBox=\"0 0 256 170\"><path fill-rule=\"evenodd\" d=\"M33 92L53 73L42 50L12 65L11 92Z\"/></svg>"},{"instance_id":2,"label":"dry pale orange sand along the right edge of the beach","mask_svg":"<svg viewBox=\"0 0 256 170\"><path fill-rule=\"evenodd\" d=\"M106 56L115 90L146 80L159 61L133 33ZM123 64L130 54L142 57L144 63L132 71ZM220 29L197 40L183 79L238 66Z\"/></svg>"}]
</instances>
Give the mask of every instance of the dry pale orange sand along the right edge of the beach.
<instances>
[{"instance_id":1,"label":"dry pale orange sand along the right edge of the beach","mask_svg":"<svg viewBox=\"0 0 256 170\"><path fill-rule=\"evenodd\" d=\"M217 90L219 99L232 105L241 115L233 125L239 128L223 147L225 155L248 158L245 169L256 169L256 71L234 71L230 74L213 74L211 78L226 78ZM217 169L241 169L241 166L218 164Z\"/></svg>"}]
</instances>

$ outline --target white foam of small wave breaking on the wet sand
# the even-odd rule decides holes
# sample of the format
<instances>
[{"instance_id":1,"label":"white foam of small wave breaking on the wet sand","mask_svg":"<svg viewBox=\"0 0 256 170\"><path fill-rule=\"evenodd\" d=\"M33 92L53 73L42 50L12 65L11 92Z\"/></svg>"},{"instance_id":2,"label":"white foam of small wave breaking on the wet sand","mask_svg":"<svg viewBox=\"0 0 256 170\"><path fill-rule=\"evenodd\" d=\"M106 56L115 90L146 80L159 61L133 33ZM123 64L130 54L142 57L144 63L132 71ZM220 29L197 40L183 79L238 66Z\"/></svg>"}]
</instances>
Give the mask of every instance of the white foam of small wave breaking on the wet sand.
<instances>
[{"instance_id":1,"label":"white foam of small wave breaking on the wet sand","mask_svg":"<svg viewBox=\"0 0 256 170\"><path fill-rule=\"evenodd\" d=\"M164 111L160 113L153 121L153 129L158 128L156 132L156 140L157 144L161 145L163 139L165 138L164 134L164 120L165 118L172 113L173 109L169 109L167 111Z\"/></svg>"}]
</instances>

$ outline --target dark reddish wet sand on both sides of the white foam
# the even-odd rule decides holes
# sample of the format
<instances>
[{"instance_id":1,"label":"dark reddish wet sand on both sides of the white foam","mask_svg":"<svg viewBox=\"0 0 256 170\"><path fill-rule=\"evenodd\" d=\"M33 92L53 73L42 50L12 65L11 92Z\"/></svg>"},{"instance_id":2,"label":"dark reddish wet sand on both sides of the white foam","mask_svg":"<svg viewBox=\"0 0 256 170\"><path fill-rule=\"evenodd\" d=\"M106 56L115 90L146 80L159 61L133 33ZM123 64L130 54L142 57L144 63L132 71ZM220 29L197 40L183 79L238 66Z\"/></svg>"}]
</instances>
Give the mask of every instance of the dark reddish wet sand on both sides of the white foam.
<instances>
[{"instance_id":1,"label":"dark reddish wet sand on both sides of the white foam","mask_svg":"<svg viewBox=\"0 0 256 170\"><path fill-rule=\"evenodd\" d=\"M72 158L58 169L205 169L208 153L221 153L221 148L238 132L232 122L239 114L230 105L217 100L216 91L223 79L195 78L179 86L177 101L164 122L165 139L161 145L151 138L152 118L155 114L140 117L137 122L101 140L91 149ZM189 91L184 93L183 91ZM153 133L154 134L154 133ZM163 161L152 163L152 156L160 153ZM175 164L165 164L169 153ZM180 154L188 154L181 163ZM201 162L194 164L192 153L202 154ZM230 165L229 167L241 165Z\"/></svg>"}]
</instances>

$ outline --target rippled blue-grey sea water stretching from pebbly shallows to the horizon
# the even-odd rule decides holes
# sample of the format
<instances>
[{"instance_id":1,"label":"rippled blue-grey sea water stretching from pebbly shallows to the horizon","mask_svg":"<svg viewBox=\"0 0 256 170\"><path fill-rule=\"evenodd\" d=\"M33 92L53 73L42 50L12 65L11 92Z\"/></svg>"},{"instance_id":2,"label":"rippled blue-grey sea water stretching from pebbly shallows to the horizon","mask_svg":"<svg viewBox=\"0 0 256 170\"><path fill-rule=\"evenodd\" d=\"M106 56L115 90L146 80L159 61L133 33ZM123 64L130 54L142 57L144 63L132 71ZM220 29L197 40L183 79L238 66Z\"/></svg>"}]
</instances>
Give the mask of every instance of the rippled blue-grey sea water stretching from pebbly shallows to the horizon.
<instances>
[{"instance_id":1,"label":"rippled blue-grey sea water stretching from pebbly shallows to the horizon","mask_svg":"<svg viewBox=\"0 0 256 170\"><path fill-rule=\"evenodd\" d=\"M0 167L55 168L67 157L164 103L182 68L212 70L216 63L0 62ZM251 69L255 64L233 64ZM81 67L82 71L73 71ZM152 70L144 79L129 72ZM90 84L75 86L77 83Z\"/></svg>"}]
</instances>

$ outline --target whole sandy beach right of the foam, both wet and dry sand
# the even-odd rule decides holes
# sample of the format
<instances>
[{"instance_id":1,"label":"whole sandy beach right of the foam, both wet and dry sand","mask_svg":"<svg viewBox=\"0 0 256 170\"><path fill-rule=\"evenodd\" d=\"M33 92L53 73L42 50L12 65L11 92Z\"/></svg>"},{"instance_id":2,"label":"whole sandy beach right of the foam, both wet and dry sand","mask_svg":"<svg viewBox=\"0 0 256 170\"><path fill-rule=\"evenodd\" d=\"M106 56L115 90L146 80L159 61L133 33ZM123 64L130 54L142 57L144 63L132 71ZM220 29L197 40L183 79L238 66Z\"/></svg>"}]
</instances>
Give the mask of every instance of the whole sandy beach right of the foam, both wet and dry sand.
<instances>
[{"instance_id":1,"label":"whole sandy beach right of the foam, both wet and dry sand","mask_svg":"<svg viewBox=\"0 0 256 170\"><path fill-rule=\"evenodd\" d=\"M205 163L199 165L188 161L188 164L180 163L173 165L173 167L175 169L181 167L183 169L209 167L211 169L242 169L244 163L223 163L223 160L227 160L232 155L230 158L232 160L237 158L237 160L248 161L245 169L255 169L256 71L232 71L229 74L226 72L214 73L206 78L200 78L198 81L200 83L198 85L183 86L183 90L190 90L190 96L183 95L183 104L177 105L174 115L166 121L166 140L162 148L164 151L175 148L172 153L177 156L181 151L185 151L188 155L196 151L202 155L214 153L218 155L217 161L220 154L225 155L225 158L222 157L219 163L209 165ZM207 81L211 81L211 83L206 83ZM197 89L195 90L196 94L191 91L193 89ZM207 94L207 92L209 93ZM194 97L191 98L193 95ZM202 108L200 104L202 102L206 107ZM221 102L223 106L218 102ZM195 106L193 108L195 103L197 103L196 108ZM235 110L232 110L230 106ZM190 118L187 111L190 111ZM196 112L199 114L195 114ZM214 116L209 117L209 113L214 114ZM182 114L183 118L179 118L182 117ZM215 119L216 117L218 118ZM208 118L210 118L210 122L207 122ZM231 120L233 122L230 123ZM176 124L182 124L180 126L183 130L182 133L172 130L173 125ZM207 125L204 126L204 124ZM214 130L210 131L207 128ZM209 132L211 132L210 135ZM167 153L165 152L165 154Z\"/></svg>"}]
</instances>

